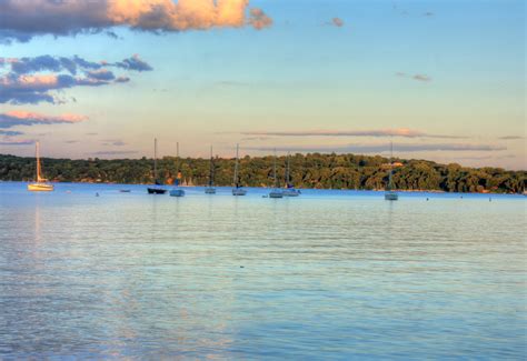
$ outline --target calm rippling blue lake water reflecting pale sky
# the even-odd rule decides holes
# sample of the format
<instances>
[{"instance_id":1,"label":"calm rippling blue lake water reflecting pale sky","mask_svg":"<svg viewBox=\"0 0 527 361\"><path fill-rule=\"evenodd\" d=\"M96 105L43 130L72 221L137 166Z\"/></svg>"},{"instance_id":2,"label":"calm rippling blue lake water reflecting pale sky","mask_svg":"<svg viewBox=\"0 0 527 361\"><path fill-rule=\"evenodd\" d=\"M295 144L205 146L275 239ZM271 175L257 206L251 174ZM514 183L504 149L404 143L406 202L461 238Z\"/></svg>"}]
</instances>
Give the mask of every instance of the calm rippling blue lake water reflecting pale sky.
<instances>
[{"instance_id":1,"label":"calm rippling blue lake water reflecting pale sky","mask_svg":"<svg viewBox=\"0 0 527 361\"><path fill-rule=\"evenodd\" d=\"M0 359L526 358L523 197L119 188L0 183Z\"/></svg>"}]
</instances>

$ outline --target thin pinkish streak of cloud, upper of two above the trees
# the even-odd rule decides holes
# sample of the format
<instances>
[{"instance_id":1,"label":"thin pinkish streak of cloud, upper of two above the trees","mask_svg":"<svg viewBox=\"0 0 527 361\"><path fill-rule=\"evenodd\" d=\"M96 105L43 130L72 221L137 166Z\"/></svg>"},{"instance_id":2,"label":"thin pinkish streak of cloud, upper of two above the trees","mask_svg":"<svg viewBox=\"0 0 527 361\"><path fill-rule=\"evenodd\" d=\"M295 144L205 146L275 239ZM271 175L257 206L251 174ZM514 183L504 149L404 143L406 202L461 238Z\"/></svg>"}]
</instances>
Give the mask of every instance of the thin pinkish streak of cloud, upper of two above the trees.
<instances>
[{"instance_id":1,"label":"thin pinkish streak of cloud, upper of two above the trees","mask_svg":"<svg viewBox=\"0 0 527 361\"><path fill-rule=\"evenodd\" d=\"M402 137L402 138L443 138L443 139L465 139L460 136L430 134L408 128L380 129L380 130L310 130L310 131L250 131L242 132L242 136L264 137Z\"/></svg>"}]
</instances>

